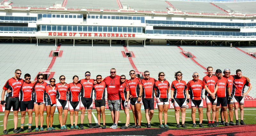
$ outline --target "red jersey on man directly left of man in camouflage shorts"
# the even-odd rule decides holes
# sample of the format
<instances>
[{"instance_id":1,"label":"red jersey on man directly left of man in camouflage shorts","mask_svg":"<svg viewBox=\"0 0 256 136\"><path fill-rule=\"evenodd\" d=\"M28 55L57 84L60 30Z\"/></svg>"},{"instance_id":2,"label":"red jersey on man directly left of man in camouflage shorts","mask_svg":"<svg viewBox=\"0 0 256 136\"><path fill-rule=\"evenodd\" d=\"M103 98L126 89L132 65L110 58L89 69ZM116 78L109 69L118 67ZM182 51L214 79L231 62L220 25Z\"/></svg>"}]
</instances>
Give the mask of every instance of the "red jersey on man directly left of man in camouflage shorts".
<instances>
[{"instance_id":1,"label":"red jersey on man directly left of man in camouflage shorts","mask_svg":"<svg viewBox=\"0 0 256 136\"><path fill-rule=\"evenodd\" d=\"M106 83L101 82L93 85L93 89L95 91L95 100L102 100L105 99L105 89L106 89Z\"/></svg>"}]
</instances>

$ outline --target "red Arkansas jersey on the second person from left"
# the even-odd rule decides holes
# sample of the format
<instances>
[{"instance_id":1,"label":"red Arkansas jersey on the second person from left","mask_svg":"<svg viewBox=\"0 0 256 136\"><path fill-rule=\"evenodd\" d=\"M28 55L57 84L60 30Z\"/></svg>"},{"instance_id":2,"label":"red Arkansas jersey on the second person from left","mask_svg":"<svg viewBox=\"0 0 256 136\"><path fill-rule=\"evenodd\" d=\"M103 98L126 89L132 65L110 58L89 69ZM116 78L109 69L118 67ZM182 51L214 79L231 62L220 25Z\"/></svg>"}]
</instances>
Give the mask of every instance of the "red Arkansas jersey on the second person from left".
<instances>
[{"instance_id":1,"label":"red Arkansas jersey on the second person from left","mask_svg":"<svg viewBox=\"0 0 256 136\"><path fill-rule=\"evenodd\" d=\"M33 86L34 84L29 82L23 82L20 89L20 101L30 101L33 100Z\"/></svg>"}]
</instances>

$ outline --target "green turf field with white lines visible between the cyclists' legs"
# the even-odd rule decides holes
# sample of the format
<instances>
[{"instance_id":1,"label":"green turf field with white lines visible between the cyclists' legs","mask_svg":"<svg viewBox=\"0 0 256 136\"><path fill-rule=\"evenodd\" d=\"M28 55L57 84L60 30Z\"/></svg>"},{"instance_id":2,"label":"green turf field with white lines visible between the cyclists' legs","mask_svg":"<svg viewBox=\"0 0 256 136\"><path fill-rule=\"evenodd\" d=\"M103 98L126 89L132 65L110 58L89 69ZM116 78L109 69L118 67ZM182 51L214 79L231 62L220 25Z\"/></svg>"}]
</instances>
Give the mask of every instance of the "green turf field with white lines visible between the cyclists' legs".
<instances>
[{"instance_id":1,"label":"green turf field with white lines visible between the cyclists' legs","mask_svg":"<svg viewBox=\"0 0 256 136\"><path fill-rule=\"evenodd\" d=\"M207 118L206 118L206 108L203 109L204 112L204 118L203 118L203 125L205 127L207 127ZM144 110L142 110L142 121L141 121L141 127L146 127L147 126L147 121L145 118L145 112ZM95 122L97 122L97 111L93 110L92 111L92 125L96 125ZM110 115L110 111L106 110L105 111L106 114L106 125L107 127L111 126L112 123L112 119L111 119L111 115ZM240 121L240 111L238 110L238 116L239 116L239 121ZM87 119L87 114L85 114L85 118L84 118L84 128L88 128L88 119ZM32 132L35 132L35 120L34 120L34 114L33 114L33 123L32 123ZM0 113L0 134L3 134L3 117L4 117L4 112ZM44 113L44 118L46 117L46 112ZM125 113L124 111L120 111L120 118L119 118L119 123L118 123L118 127L122 126L125 124ZM164 118L163 118L164 119ZM219 116L219 121L220 121L220 116ZM196 124L198 127L198 113L196 113ZM229 117L228 117L228 122L229 122ZM244 122L246 124L256 124L256 108L244 108ZM234 123L235 123L235 115L234 115ZM134 120L133 120L133 115L132 115L132 110L130 110L130 124L134 124ZM164 124L164 121L163 121ZM181 118L180 118L180 124L181 124ZM186 121L185 124L187 125L188 129L192 128L192 119L191 119L191 109L186 109ZM67 118L67 123L66 123L68 129L70 128L70 121L69 121L69 112L68 112L68 118ZM101 121L101 125L102 125L102 121ZM174 109L169 109L168 110L168 119L167 119L167 125L170 126L170 128L176 128L176 121L175 121L175 116L174 116ZM40 122L39 122L39 126L40 126ZM78 114L78 126L80 126L80 112ZM158 120L158 110L156 109L154 111L154 117L151 120L151 126L152 128L159 128L159 120ZM222 126L222 125L220 125ZM53 120L53 127L58 130L60 129L60 125L59 125L59 120L58 120L58 111L55 111L54 114L54 120ZM195 129L196 129L195 128ZM19 113L19 122L18 122L18 129L20 129L20 113ZM25 132L27 132L28 129L28 116L26 115L25 117L25 123L24 123L24 129ZM180 128L183 129L183 128ZM7 123L7 131L8 134L12 134L13 132L13 114L12 112L9 115L8 118L8 123ZM44 131L46 131L46 122L44 119Z\"/></svg>"}]
</instances>

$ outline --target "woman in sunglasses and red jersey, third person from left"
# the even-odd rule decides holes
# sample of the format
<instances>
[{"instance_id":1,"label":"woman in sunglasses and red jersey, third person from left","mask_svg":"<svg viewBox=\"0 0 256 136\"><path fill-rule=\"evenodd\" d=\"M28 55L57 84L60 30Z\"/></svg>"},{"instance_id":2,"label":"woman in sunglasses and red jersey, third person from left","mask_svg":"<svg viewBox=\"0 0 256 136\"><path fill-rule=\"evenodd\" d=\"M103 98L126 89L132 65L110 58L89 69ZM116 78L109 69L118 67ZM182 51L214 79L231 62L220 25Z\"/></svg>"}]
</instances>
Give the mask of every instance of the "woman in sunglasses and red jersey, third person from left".
<instances>
[{"instance_id":1,"label":"woman in sunglasses and red jersey, third person from left","mask_svg":"<svg viewBox=\"0 0 256 136\"><path fill-rule=\"evenodd\" d=\"M35 82L34 89L34 111L35 111L35 131L39 131L38 128L38 120L40 115L40 131L44 131L43 123L44 123L44 107L45 107L45 87L47 83L44 82L44 75L38 74L36 76L37 81Z\"/></svg>"}]
</instances>

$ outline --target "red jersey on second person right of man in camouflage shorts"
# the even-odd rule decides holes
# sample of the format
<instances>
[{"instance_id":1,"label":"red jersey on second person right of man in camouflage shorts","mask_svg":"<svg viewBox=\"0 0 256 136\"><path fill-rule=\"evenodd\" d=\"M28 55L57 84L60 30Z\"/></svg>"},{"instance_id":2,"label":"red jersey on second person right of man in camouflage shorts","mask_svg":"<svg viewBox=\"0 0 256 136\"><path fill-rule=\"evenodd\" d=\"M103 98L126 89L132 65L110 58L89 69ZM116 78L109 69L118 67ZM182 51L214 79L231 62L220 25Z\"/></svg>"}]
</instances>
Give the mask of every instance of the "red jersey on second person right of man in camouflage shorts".
<instances>
[{"instance_id":1,"label":"red jersey on second person right of man in camouflage shorts","mask_svg":"<svg viewBox=\"0 0 256 136\"><path fill-rule=\"evenodd\" d=\"M142 85L140 78L130 79L128 80L127 83L129 85L130 95L132 97L139 97L139 94L140 94L139 85Z\"/></svg>"}]
</instances>

